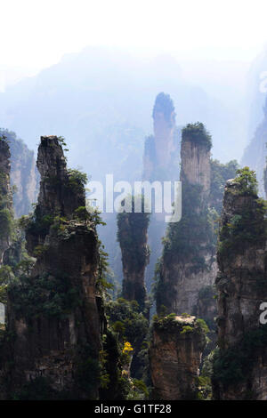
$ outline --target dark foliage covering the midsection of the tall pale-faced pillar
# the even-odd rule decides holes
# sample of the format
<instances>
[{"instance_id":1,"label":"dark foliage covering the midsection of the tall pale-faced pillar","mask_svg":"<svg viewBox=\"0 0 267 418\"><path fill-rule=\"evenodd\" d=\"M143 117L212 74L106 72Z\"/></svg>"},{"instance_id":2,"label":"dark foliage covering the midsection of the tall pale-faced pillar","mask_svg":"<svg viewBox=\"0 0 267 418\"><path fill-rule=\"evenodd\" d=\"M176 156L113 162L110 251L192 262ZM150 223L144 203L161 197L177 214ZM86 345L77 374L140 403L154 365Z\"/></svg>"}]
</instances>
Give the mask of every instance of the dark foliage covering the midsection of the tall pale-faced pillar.
<instances>
[{"instance_id":1,"label":"dark foliage covering the midsection of the tall pale-faced pillar","mask_svg":"<svg viewBox=\"0 0 267 418\"><path fill-rule=\"evenodd\" d=\"M182 219L172 222L163 238L163 256L158 260L155 269L153 292L157 309L161 305L170 306L174 297L174 283L165 283L162 266L173 262L190 262L191 272L208 270L206 252L214 253L216 248L217 213L210 210L201 201L202 187L187 181L182 183Z\"/></svg>"}]
</instances>

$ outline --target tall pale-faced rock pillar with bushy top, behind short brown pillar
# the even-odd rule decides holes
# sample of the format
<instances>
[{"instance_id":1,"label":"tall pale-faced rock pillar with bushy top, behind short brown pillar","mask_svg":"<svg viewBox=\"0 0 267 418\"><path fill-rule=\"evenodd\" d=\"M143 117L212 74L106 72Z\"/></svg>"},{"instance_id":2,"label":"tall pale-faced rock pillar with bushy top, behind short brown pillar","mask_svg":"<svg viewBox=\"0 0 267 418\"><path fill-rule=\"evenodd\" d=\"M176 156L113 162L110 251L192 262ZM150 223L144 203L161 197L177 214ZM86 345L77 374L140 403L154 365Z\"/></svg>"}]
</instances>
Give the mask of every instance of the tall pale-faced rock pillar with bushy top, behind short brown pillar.
<instances>
[{"instance_id":1,"label":"tall pale-faced rock pillar with bushy top, behind short brown pillar","mask_svg":"<svg viewBox=\"0 0 267 418\"><path fill-rule=\"evenodd\" d=\"M196 314L199 292L211 290L216 277L213 213L210 191L211 141L202 124L182 132L182 220L168 226L158 266L157 309ZM205 319L213 319L214 299L206 304ZM202 307L203 313L203 307ZM205 312L204 312L205 313ZM203 318L203 317L202 317Z\"/></svg>"}]
</instances>

